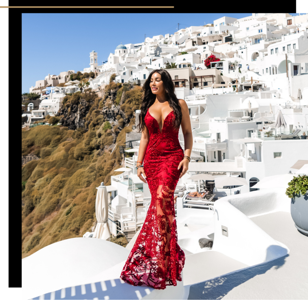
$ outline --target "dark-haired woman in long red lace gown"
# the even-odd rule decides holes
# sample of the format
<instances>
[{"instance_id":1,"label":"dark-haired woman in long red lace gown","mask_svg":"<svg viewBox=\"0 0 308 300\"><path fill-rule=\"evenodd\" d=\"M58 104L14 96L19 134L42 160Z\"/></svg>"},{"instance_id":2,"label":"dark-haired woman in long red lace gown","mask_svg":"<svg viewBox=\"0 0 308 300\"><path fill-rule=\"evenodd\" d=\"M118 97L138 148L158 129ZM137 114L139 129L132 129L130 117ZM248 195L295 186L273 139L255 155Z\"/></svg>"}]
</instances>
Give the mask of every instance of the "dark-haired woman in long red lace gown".
<instances>
[{"instance_id":1,"label":"dark-haired woman in long red lace gown","mask_svg":"<svg viewBox=\"0 0 308 300\"><path fill-rule=\"evenodd\" d=\"M140 180L148 182L152 197L121 278L134 286L165 289L182 280L185 256L177 244L173 194L179 178L188 170L193 135L187 104L176 98L166 70L152 71L143 89L136 168ZM185 152L178 139L180 125Z\"/></svg>"}]
</instances>

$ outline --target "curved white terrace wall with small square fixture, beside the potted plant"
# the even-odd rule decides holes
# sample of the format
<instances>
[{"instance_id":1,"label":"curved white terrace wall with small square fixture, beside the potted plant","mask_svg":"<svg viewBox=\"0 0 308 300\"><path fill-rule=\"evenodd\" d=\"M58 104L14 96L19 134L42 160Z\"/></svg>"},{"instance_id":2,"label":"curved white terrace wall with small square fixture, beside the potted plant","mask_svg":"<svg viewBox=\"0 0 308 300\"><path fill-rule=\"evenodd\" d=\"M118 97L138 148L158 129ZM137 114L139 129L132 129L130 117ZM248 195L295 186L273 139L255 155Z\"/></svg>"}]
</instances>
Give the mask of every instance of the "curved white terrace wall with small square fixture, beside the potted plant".
<instances>
[{"instance_id":1,"label":"curved white terrace wall with small square fixture, beside the potted plant","mask_svg":"<svg viewBox=\"0 0 308 300\"><path fill-rule=\"evenodd\" d=\"M254 191L222 197L214 203L213 251L248 266L269 261L289 252L247 216L273 211L290 212L290 199L281 190ZM228 228L228 237L222 227ZM285 248L286 247L286 248Z\"/></svg>"}]
</instances>

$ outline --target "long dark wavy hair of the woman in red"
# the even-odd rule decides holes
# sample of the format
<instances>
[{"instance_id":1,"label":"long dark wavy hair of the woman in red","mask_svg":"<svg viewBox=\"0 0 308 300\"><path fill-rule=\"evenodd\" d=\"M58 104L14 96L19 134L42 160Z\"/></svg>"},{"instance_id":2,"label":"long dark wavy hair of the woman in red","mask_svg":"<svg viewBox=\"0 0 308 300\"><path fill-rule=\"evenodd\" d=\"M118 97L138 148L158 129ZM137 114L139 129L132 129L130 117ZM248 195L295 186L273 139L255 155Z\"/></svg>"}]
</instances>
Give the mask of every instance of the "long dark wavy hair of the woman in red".
<instances>
[{"instance_id":1,"label":"long dark wavy hair of the woman in red","mask_svg":"<svg viewBox=\"0 0 308 300\"><path fill-rule=\"evenodd\" d=\"M151 77L154 73L160 74L164 88L167 92L169 106L173 109L173 114L175 116L172 123L173 127L174 128L180 127L182 121L182 111L179 105L179 100L176 98L176 95L174 93L175 86L172 81L172 78L168 71L164 69L156 69L150 73L148 79L145 81L143 85L144 98L142 100L140 108L141 112L139 114L139 124L137 125L138 132L142 132L144 130L145 127L144 117L147 114L148 108L151 107L156 100L156 95L152 93L152 89L150 87Z\"/></svg>"}]
</instances>

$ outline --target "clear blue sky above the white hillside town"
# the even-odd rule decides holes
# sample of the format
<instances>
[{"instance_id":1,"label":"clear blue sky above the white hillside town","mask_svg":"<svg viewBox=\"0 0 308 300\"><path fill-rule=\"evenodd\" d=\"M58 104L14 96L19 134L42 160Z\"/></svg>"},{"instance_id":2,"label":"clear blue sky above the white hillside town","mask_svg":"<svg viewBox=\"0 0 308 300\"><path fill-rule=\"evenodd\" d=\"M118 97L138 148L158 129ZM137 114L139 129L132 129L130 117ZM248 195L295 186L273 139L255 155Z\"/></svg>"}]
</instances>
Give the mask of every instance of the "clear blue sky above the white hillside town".
<instances>
[{"instance_id":1,"label":"clear blue sky above the white hillside town","mask_svg":"<svg viewBox=\"0 0 308 300\"><path fill-rule=\"evenodd\" d=\"M146 37L173 34L180 28L213 23L223 16L251 14L22 14L22 93L46 75L89 67L90 52L98 63L115 47L144 42ZM295 14L292 14L295 15Z\"/></svg>"}]
</instances>

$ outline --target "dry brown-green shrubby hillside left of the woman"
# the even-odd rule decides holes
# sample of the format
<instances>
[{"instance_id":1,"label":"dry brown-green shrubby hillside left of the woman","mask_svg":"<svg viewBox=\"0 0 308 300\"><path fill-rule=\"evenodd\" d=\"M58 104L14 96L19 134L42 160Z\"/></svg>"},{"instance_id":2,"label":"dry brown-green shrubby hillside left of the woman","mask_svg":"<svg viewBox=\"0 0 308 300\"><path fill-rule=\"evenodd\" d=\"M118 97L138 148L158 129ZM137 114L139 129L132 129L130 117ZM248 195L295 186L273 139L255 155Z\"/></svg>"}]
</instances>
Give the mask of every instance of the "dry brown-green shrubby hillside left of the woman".
<instances>
[{"instance_id":1,"label":"dry brown-green shrubby hillside left of the woman","mask_svg":"<svg viewBox=\"0 0 308 300\"><path fill-rule=\"evenodd\" d=\"M122 162L119 145L132 130L133 111L140 108L142 96L140 87L112 82L104 98L90 89L65 97L57 117L63 118L63 111L70 115L79 105L84 127L22 130L22 155L40 157L22 167L22 257L91 231L96 222L95 187L102 181L109 185L110 176L119 174L113 171Z\"/></svg>"}]
</instances>

